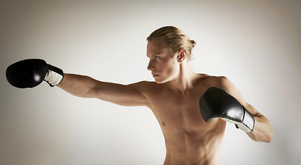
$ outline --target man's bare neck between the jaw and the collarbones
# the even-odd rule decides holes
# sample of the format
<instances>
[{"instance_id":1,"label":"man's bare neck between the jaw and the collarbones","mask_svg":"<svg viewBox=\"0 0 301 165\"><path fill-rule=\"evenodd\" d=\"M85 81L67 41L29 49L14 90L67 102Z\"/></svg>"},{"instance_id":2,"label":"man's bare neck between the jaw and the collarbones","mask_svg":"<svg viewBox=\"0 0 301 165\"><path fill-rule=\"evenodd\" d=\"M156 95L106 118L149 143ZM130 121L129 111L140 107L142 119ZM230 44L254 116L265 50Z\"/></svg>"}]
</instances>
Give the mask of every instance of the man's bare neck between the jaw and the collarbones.
<instances>
[{"instance_id":1,"label":"man's bare neck between the jaw and the collarbones","mask_svg":"<svg viewBox=\"0 0 301 165\"><path fill-rule=\"evenodd\" d=\"M174 80L169 81L168 85L171 90L184 94L185 91L193 88L197 74L193 72L187 62L183 62L179 66L179 75Z\"/></svg>"}]
</instances>

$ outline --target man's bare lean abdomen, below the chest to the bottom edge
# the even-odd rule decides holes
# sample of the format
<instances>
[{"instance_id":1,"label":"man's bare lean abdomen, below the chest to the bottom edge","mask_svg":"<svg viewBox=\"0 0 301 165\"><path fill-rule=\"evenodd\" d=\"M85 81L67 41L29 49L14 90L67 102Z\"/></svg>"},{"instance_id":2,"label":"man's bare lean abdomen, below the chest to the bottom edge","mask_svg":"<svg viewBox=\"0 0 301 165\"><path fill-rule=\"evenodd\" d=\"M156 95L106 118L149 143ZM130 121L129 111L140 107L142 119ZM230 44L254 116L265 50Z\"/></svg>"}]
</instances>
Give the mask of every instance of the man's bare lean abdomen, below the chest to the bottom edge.
<instances>
[{"instance_id":1,"label":"man's bare lean abdomen, below the chest to the bottom edge","mask_svg":"<svg viewBox=\"0 0 301 165\"><path fill-rule=\"evenodd\" d=\"M225 122L212 120L210 124L191 130L162 128L166 145L164 165L219 164Z\"/></svg>"}]
</instances>

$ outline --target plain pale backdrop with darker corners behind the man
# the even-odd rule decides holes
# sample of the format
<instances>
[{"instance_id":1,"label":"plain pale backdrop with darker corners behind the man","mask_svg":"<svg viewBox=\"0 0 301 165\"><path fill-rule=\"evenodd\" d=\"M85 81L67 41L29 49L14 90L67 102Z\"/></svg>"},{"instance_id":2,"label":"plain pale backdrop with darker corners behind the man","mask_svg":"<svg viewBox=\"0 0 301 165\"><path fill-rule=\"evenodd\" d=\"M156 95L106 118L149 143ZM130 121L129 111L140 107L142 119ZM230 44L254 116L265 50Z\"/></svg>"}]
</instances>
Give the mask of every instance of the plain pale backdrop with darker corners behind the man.
<instances>
[{"instance_id":1,"label":"plain pale backdrop with darker corners behind the man","mask_svg":"<svg viewBox=\"0 0 301 165\"><path fill-rule=\"evenodd\" d=\"M43 58L64 72L153 80L146 37L175 25L197 42L191 67L227 76L271 120L271 143L227 125L220 164L301 162L300 1L3 1L0 164L162 164L164 137L145 107L8 84L6 67Z\"/></svg>"}]
</instances>

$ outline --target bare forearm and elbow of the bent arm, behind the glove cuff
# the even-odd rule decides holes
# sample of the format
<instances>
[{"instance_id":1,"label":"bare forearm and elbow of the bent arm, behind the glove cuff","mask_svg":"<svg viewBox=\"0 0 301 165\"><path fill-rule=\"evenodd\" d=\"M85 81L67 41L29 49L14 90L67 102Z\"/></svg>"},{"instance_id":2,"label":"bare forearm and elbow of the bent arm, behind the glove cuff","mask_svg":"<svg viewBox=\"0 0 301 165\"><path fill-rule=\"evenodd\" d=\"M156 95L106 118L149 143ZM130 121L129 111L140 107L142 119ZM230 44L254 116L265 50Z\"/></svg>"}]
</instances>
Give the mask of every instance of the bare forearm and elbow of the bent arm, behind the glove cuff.
<instances>
[{"instance_id":1,"label":"bare forearm and elbow of the bent arm, behind the glove cuff","mask_svg":"<svg viewBox=\"0 0 301 165\"><path fill-rule=\"evenodd\" d=\"M273 138L273 130L271 123L264 115L253 115L255 119L254 129L251 133L246 133L256 142L271 142Z\"/></svg>"}]
</instances>

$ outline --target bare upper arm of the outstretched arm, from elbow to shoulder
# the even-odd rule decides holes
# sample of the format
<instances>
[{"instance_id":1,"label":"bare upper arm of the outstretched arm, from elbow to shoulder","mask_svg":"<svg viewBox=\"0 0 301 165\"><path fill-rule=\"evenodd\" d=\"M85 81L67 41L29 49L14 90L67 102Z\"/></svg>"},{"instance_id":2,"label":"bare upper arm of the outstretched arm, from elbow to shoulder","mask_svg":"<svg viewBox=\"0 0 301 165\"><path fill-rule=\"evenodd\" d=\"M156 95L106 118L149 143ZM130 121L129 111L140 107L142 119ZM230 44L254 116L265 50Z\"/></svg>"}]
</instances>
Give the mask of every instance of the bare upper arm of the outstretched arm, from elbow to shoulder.
<instances>
[{"instance_id":1,"label":"bare upper arm of the outstretched arm, from elbow to shoulder","mask_svg":"<svg viewBox=\"0 0 301 165\"><path fill-rule=\"evenodd\" d=\"M143 82L130 85L99 82L93 89L95 98L123 106L143 106L148 104L144 96Z\"/></svg>"}]
</instances>

